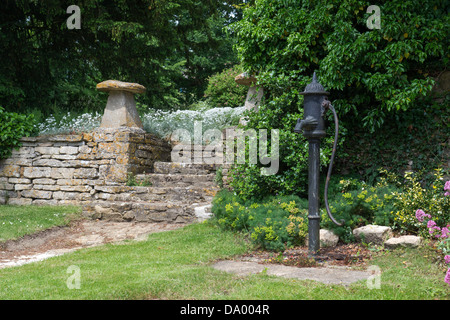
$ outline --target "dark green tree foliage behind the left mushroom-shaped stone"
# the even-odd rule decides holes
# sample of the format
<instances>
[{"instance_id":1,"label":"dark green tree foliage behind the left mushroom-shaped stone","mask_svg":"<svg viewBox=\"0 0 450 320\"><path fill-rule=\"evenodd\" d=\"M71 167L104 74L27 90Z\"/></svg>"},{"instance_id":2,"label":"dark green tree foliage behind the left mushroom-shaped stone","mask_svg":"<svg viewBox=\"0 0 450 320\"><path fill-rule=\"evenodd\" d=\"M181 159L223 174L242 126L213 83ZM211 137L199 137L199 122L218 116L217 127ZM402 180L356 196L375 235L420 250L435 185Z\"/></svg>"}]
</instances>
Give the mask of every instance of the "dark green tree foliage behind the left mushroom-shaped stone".
<instances>
[{"instance_id":1,"label":"dark green tree foliage behind the left mushroom-shaped stone","mask_svg":"<svg viewBox=\"0 0 450 320\"><path fill-rule=\"evenodd\" d=\"M141 102L173 108L201 97L208 76L235 62L223 26L240 17L233 1L2 1L0 104L8 111L104 107L98 82L147 88ZM99 111L100 111L99 110Z\"/></svg>"}]
</instances>

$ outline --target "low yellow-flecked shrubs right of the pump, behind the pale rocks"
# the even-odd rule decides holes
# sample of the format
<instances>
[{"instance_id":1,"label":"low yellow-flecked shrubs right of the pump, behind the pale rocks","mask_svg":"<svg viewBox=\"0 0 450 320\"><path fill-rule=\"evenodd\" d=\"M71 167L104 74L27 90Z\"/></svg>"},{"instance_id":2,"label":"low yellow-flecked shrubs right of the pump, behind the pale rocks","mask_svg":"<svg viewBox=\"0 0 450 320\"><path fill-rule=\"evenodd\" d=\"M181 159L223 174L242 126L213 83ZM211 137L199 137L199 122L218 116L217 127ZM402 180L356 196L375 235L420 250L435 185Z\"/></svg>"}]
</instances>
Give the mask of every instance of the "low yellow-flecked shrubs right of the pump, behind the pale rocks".
<instances>
[{"instance_id":1,"label":"low yellow-flecked shrubs right of the pump, behind the pale rocks","mask_svg":"<svg viewBox=\"0 0 450 320\"><path fill-rule=\"evenodd\" d=\"M428 237L427 226L416 218L418 209L431 214L438 227L450 223L450 197L445 195L442 170L436 170L433 178L430 185L424 186L420 173L407 172L399 177L381 170L374 185L355 178L333 181L330 209L345 224L334 225L323 210L322 226L333 229L343 241L354 240L352 230L368 224L390 226L400 234Z\"/></svg>"}]
</instances>

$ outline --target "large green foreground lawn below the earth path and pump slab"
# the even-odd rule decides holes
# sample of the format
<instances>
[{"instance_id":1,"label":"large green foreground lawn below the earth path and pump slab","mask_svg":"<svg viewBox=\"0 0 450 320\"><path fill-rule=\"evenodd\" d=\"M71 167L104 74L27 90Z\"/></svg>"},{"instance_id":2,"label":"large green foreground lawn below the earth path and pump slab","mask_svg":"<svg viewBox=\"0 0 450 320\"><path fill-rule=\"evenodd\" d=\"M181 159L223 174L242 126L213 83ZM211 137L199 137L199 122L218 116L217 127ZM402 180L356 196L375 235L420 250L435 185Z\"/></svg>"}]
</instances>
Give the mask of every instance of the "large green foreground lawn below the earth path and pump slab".
<instances>
[{"instance_id":1,"label":"large green foreground lawn below the earth path and pump slab","mask_svg":"<svg viewBox=\"0 0 450 320\"><path fill-rule=\"evenodd\" d=\"M82 249L20 267L0 269L0 299L449 299L445 270L427 248L376 255L380 289L236 276L212 261L248 252L244 238L209 223L151 234L147 241ZM69 289L79 270L80 288ZM69 271L69 272L68 272Z\"/></svg>"}]
</instances>

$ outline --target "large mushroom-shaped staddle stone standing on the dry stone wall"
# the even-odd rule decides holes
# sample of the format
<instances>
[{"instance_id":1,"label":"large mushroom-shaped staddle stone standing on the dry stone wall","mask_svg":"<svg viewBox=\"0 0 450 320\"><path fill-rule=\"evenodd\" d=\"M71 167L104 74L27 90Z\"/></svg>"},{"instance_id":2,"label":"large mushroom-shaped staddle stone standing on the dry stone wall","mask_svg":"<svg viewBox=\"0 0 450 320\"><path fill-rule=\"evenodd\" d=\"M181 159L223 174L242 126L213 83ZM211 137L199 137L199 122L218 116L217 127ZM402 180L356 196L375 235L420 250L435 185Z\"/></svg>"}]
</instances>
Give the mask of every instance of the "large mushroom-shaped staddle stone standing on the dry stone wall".
<instances>
[{"instance_id":1,"label":"large mushroom-shaped staddle stone standing on the dry stone wall","mask_svg":"<svg viewBox=\"0 0 450 320\"><path fill-rule=\"evenodd\" d=\"M101 128L143 128L136 109L134 94L144 93L144 86L137 83L108 80L97 84L97 90L109 92Z\"/></svg>"}]
</instances>

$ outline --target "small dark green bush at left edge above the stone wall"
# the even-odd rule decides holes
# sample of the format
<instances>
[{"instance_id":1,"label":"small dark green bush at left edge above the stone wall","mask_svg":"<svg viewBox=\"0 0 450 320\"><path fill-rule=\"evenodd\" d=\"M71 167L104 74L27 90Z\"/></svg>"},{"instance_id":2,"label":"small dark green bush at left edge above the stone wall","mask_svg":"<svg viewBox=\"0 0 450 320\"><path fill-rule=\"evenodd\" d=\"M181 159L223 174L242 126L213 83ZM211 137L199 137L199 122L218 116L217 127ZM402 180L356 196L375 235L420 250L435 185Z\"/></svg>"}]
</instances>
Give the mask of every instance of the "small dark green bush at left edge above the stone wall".
<instances>
[{"instance_id":1,"label":"small dark green bush at left edge above the stone wall","mask_svg":"<svg viewBox=\"0 0 450 320\"><path fill-rule=\"evenodd\" d=\"M20 138L35 133L34 117L6 112L0 107L0 159L8 158L12 149L21 146Z\"/></svg>"}]
</instances>

